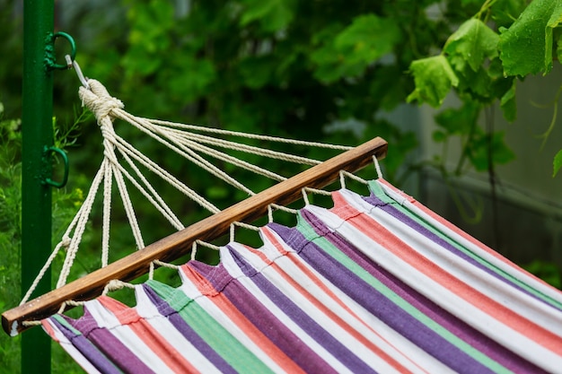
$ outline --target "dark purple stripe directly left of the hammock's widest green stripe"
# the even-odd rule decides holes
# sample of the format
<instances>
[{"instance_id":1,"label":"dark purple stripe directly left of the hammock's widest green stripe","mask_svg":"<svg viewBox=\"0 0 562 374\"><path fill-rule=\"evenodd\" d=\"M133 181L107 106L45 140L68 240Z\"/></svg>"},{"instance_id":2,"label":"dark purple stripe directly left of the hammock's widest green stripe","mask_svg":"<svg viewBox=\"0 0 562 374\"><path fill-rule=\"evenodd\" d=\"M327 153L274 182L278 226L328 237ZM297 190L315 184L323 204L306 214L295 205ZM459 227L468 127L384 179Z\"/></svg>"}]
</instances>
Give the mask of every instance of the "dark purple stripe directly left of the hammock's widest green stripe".
<instances>
[{"instance_id":1,"label":"dark purple stripe directly left of the hammock's widest green stripe","mask_svg":"<svg viewBox=\"0 0 562 374\"><path fill-rule=\"evenodd\" d=\"M166 317L170 323L183 335L191 344L193 344L199 352L201 352L208 361L211 361L213 365L218 370L221 370L223 373L236 373L236 370L227 362L224 361L223 357L219 355L215 350L206 343L206 341L198 335L198 333L188 325L188 323L180 316L177 310L171 308L170 304L168 304L165 300L162 300L156 291L154 291L150 284L154 281L148 281L147 283L143 284L143 290L145 291L148 298L152 301L158 312L163 316ZM159 286L162 287L163 284ZM169 286L166 286L167 290L166 297L173 298L176 292L181 292L178 289L173 289ZM183 292L181 292L183 297L186 297ZM163 295L162 295L163 296ZM198 323L199 321L195 321ZM180 347L178 347L180 349Z\"/></svg>"}]
</instances>

